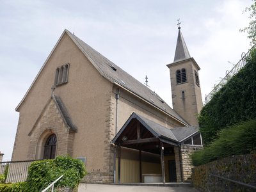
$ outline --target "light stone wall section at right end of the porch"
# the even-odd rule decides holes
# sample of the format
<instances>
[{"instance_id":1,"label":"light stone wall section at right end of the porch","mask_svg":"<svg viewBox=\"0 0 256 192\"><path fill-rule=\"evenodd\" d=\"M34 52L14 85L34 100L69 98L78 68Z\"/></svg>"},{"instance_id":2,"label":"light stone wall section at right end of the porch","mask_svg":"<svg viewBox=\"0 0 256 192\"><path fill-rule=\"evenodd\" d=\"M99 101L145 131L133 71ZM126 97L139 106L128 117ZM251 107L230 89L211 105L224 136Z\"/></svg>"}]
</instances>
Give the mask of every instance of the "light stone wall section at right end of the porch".
<instances>
[{"instance_id":1,"label":"light stone wall section at right end of the porch","mask_svg":"<svg viewBox=\"0 0 256 192\"><path fill-rule=\"evenodd\" d=\"M191 168L192 163L191 163L191 157L190 155L195 151L198 150L202 147L198 146L189 146L189 145L182 145L180 148L181 154L182 154L182 170L183 170L183 179L184 181L186 180L191 180Z\"/></svg>"}]
</instances>

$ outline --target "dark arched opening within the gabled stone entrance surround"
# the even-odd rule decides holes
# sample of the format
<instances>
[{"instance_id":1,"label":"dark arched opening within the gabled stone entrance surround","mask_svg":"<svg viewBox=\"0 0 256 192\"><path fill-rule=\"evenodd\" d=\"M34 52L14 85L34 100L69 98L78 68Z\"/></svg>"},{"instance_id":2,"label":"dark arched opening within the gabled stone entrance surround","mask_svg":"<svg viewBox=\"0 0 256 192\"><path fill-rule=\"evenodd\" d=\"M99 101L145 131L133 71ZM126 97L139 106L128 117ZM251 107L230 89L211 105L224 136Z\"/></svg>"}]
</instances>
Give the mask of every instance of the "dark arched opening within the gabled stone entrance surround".
<instances>
[{"instance_id":1,"label":"dark arched opening within the gabled stone entrance surround","mask_svg":"<svg viewBox=\"0 0 256 192\"><path fill-rule=\"evenodd\" d=\"M56 144L57 144L56 134L51 134L45 142L44 159L54 159L55 158Z\"/></svg>"}]
</instances>

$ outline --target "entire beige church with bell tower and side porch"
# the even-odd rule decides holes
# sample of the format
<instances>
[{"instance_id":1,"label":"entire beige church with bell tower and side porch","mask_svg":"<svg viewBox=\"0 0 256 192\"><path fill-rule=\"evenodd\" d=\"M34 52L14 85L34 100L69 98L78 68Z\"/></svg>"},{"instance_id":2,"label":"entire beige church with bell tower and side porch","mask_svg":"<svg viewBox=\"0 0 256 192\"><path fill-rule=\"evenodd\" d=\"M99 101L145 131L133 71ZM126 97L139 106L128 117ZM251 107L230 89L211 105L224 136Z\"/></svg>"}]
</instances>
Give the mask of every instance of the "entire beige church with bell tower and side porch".
<instances>
[{"instance_id":1,"label":"entire beige church with bell tower and side porch","mask_svg":"<svg viewBox=\"0 0 256 192\"><path fill-rule=\"evenodd\" d=\"M202 148L202 96L180 27L167 67L173 109L65 29L15 109L12 161L68 154L86 165L86 182L186 182L189 154Z\"/></svg>"}]
</instances>

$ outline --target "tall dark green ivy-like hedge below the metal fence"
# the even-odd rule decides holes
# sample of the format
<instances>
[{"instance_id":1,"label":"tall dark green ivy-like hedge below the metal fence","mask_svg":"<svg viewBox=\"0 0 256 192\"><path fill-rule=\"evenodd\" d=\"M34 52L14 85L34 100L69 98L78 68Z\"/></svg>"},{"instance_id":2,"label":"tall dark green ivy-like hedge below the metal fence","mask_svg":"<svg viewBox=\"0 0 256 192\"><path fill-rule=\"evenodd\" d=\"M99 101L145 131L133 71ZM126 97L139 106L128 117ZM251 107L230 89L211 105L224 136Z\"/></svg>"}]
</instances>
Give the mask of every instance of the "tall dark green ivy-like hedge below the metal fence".
<instances>
[{"instance_id":1,"label":"tall dark green ivy-like hedge below the metal fence","mask_svg":"<svg viewBox=\"0 0 256 192\"><path fill-rule=\"evenodd\" d=\"M211 143L221 129L256 118L256 51L247 64L205 104L198 116L205 145Z\"/></svg>"}]
</instances>

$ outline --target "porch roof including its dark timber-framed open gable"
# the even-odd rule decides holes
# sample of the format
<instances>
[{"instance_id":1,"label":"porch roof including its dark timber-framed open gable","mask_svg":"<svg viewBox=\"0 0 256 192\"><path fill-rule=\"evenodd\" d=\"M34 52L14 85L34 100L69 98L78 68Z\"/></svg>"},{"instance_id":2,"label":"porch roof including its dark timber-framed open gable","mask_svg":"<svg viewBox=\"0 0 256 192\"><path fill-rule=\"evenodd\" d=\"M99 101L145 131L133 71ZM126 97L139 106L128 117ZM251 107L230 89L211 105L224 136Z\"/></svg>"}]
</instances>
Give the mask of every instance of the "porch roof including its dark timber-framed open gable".
<instances>
[{"instance_id":1,"label":"porch roof including its dark timber-framed open gable","mask_svg":"<svg viewBox=\"0 0 256 192\"><path fill-rule=\"evenodd\" d=\"M136 128L136 124L138 123L140 123L141 127L140 136L138 136L138 129ZM118 131L115 138L113 138L113 143L115 143L115 145L128 145L150 143L158 139L164 143L177 146L182 141L195 135L198 131L199 127L195 126L168 129L156 122L153 122L152 120L149 120L148 118L132 113L120 131Z\"/></svg>"}]
</instances>

